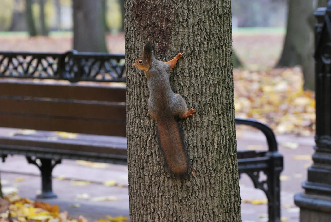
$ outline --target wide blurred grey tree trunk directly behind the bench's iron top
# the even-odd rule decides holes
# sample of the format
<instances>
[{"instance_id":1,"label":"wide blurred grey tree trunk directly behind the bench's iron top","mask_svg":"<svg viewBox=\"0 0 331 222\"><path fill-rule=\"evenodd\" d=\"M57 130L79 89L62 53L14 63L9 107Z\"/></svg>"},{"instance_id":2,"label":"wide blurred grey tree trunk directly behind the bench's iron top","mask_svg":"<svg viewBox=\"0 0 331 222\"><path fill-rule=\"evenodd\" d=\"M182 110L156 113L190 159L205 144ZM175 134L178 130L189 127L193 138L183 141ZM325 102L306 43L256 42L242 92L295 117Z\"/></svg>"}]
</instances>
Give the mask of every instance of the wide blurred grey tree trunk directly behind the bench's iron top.
<instances>
[{"instance_id":1,"label":"wide blurred grey tree trunk directly behind the bench's iron top","mask_svg":"<svg viewBox=\"0 0 331 222\"><path fill-rule=\"evenodd\" d=\"M102 1L73 0L73 48L107 52Z\"/></svg>"}]
</instances>

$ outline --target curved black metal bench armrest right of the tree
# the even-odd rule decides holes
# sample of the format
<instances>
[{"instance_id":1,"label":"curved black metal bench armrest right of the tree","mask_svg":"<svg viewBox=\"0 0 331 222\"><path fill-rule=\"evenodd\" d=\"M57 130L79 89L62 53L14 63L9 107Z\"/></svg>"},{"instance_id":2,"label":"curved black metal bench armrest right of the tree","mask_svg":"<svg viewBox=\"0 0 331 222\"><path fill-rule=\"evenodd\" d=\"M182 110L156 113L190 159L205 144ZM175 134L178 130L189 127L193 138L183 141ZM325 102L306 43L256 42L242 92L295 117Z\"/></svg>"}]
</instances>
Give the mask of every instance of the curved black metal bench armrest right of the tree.
<instances>
[{"instance_id":1,"label":"curved black metal bench armrest right of the tree","mask_svg":"<svg viewBox=\"0 0 331 222\"><path fill-rule=\"evenodd\" d=\"M242 119L242 118L236 118L236 124L249 125L261 130L267 139L269 152L278 151L275 134L267 124L261 123L260 121L257 121L255 119Z\"/></svg>"}]
</instances>

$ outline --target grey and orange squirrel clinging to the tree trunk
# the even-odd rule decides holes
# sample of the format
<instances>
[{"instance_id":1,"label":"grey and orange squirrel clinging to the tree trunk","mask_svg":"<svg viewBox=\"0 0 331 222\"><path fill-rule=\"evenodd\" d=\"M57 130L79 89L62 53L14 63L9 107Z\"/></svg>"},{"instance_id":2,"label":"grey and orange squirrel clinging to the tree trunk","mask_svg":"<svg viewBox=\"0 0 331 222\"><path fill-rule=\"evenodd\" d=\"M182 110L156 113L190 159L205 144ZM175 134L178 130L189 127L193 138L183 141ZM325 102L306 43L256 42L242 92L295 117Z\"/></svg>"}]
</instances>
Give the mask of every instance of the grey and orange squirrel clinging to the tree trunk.
<instances>
[{"instance_id":1,"label":"grey and orange squirrel clinging to the tree trunk","mask_svg":"<svg viewBox=\"0 0 331 222\"><path fill-rule=\"evenodd\" d=\"M148 110L151 118L157 122L159 141L169 170L178 176L188 174L189 161L184 141L180 132L178 116L182 119L193 116L193 107L188 109L185 100L172 92L169 82L169 71L183 53L163 62L154 58L152 47L148 42L133 66L145 71L150 92Z\"/></svg>"}]
</instances>

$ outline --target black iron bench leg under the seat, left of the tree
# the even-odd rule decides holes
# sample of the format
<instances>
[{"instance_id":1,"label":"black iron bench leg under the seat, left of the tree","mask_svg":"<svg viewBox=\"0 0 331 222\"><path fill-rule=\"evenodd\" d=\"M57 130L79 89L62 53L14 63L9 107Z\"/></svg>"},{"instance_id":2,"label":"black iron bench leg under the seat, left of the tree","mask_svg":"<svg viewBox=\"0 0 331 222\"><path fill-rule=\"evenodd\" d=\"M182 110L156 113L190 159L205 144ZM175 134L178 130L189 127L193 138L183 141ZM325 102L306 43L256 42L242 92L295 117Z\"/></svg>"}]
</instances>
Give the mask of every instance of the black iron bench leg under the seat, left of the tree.
<instances>
[{"instance_id":1,"label":"black iron bench leg under the seat, left of the tree","mask_svg":"<svg viewBox=\"0 0 331 222\"><path fill-rule=\"evenodd\" d=\"M32 159L31 157L26 157L28 163L36 165L41 172L41 194L37 195L37 198L55 198L57 197L52 190L52 171L55 165L60 164L61 160L53 160L46 158Z\"/></svg>"}]
</instances>

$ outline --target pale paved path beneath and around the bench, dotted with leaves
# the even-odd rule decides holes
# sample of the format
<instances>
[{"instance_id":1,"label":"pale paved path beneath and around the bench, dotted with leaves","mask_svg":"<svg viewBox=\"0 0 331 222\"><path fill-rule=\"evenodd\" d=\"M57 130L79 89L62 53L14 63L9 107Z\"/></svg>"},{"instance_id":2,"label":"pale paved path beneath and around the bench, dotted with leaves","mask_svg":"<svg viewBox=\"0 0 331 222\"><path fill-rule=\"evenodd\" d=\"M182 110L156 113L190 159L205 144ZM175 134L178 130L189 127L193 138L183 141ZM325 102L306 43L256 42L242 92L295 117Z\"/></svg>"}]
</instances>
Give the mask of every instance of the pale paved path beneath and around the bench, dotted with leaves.
<instances>
[{"instance_id":1,"label":"pale paved path beneath and around the bench, dotted with leaves","mask_svg":"<svg viewBox=\"0 0 331 222\"><path fill-rule=\"evenodd\" d=\"M281 201L282 216L289 222L299 221L299 212L293 204L295 193L302 191L301 183L306 180L307 166L311 164L310 160L294 160L296 155L311 155L314 141L312 137L302 138L294 135L282 135L277 137L279 144L284 142L299 143L299 148L289 149L279 146L279 151L284 155L285 170L282 173ZM238 133L239 149L265 149L266 141L262 134ZM305 158L305 156L301 156ZM19 194L33 199L40 189L40 178L37 167L27 164L24 157L8 157L5 163L0 164L1 179L7 182L6 186L17 186ZM104 215L128 216L128 184L127 167L120 165L108 165L106 168L92 168L82 166L75 161L64 160L62 164L54 169L54 177L61 176L61 179L55 179L53 189L59 196L56 199L47 200L51 204L58 204L61 210L69 211L69 215L77 217L84 215L89 220L99 219ZM23 181L17 182L24 178ZM87 180L91 184L77 186L72 180ZM103 182L115 180L119 186L105 186ZM262 191L255 189L248 176L242 175L240 179L240 190L242 203L243 222L266 221L267 205L253 205L248 200L262 200L265 195ZM82 195L83 194L83 195ZM88 199L80 199L89 195L89 197L111 196L118 200L93 202ZM77 198L80 197L80 198ZM245 202L246 201L246 202ZM80 206L80 207L75 207Z\"/></svg>"}]
</instances>

